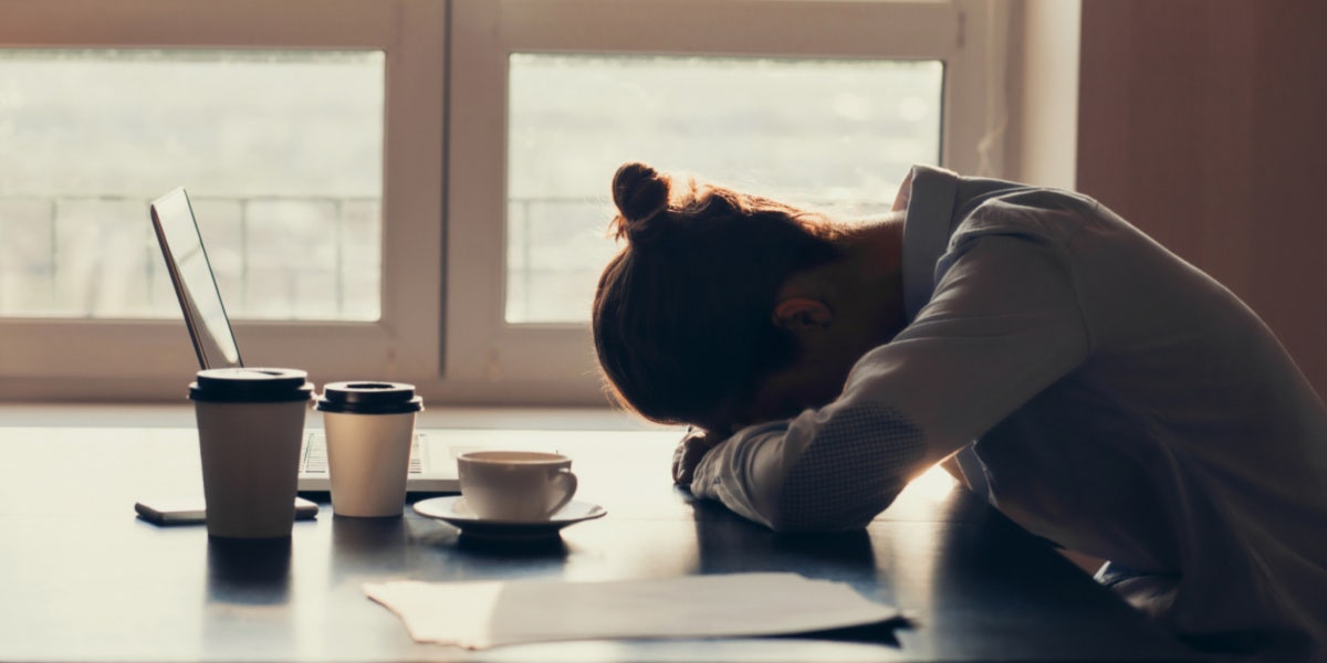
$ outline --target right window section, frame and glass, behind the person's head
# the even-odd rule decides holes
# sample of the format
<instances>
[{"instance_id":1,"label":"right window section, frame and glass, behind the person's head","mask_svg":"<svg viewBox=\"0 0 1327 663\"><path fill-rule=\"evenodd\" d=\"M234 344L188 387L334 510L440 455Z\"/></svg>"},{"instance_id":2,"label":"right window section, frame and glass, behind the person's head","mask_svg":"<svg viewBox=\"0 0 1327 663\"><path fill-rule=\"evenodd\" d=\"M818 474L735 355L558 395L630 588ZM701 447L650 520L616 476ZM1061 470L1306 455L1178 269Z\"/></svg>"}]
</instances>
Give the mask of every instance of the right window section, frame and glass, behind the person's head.
<instances>
[{"instance_id":1,"label":"right window section, frame and glass, behind the person's head","mask_svg":"<svg viewBox=\"0 0 1327 663\"><path fill-rule=\"evenodd\" d=\"M892 203L912 162L993 174L1001 20L967 0L456 0L447 374L602 402L584 321L625 160L841 213Z\"/></svg>"}]
</instances>

